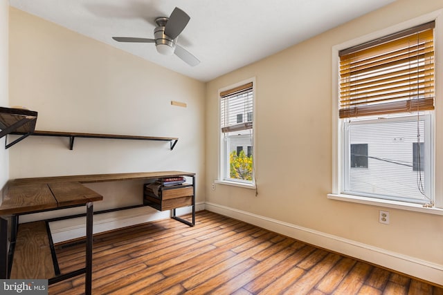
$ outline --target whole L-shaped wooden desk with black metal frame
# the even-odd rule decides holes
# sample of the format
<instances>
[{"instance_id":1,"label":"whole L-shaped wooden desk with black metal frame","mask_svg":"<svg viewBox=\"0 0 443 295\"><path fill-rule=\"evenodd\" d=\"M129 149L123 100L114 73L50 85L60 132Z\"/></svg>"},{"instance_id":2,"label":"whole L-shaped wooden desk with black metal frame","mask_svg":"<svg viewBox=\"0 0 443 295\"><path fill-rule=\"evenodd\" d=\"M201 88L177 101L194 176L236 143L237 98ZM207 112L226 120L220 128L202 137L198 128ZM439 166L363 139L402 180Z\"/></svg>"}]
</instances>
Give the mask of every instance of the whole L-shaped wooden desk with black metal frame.
<instances>
[{"instance_id":1,"label":"whole L-shaped wooden desk with black metal frame","mask_svg":"<svg viewBox=\"0 0 443 295\"><path fill-rule=\"evenodd\" d=\"M91 294L92 281L92 227L93 227L93 202L102 200L95 191L84 187L82 183L108 182L120 180L152 180L159 178L170 178L175 176L188 176L192 178L192 222L183 220L176 216L172 209L172 218L187 225L195 225L195 173L183 171L160 171L139 173L112 173L94 175L69 175L46 178L21 178L8 182L6 196L0 205L0 216L11 216L11 247L8 256L8 220L0 217L0 278L8 278L12 261L13 249L17 239L18 216L28 213L37 213L69 207L87 207L87 261L84 269L60 274L50 278L49 284L60 280L86 274L85 293ZM140 206L145 206L141 204ZM127 209L116 208L115 210ZM111 211L111 210L106 210ZM96 212L100 213L100 212ZM12 251L11 251L12 249ZM12 253L12 254L11 254Z\"/></svg>"}]
</instances>

